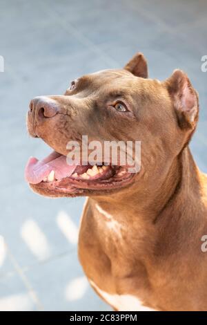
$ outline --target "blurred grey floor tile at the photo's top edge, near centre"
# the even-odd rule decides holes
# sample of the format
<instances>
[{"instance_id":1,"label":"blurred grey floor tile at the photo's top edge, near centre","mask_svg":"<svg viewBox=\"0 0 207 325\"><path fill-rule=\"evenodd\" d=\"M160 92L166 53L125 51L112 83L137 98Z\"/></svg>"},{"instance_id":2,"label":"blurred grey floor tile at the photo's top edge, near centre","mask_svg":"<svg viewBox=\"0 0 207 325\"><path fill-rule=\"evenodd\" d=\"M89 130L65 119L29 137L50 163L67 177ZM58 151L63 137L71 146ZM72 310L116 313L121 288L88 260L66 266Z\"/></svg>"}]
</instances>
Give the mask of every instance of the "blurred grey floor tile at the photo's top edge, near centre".
<instances>
[{"instance_id":1,"label":"blurred grey floor tile at the photo's top edge, near centre","mask_svg":"<svg viewBox=\"0 0 207 325\"><path fill-rule=\"evenodd\" d=\"M100 5L93 6L92 10L89 6L84 15L81 15L83 12L67 15L67 8L70 10L69 3L66 4L66 10L57 10L56 17L61 19L62 24L75 28L96 46L117 41L124 44L128 39L137 44L138 39L141 39L147 44L153 37L151 30L154 33L160 31L154 21L144 16L140 10L135 12L126 1L100 1Z\"/></svg>"}]
</instances>

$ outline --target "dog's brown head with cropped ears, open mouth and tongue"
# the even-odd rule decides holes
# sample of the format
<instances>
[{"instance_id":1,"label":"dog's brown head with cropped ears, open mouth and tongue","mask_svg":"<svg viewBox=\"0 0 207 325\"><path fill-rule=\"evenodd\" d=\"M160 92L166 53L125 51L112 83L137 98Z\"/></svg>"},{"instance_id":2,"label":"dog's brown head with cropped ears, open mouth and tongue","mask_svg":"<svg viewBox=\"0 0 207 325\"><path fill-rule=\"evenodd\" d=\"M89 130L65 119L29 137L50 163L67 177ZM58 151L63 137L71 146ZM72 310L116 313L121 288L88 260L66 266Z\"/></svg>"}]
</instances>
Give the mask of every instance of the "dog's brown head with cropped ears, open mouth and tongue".
<instances>
[{"instance_id":1,"label":"dog's brown head with cropped ears, open mouth and tongue","mask_svg":"<svg viewBox=\"0 0 207 325\"><path fill-rule=\"evenodd\" d=\"M28 132L54 151L41 161L30 158L26 179L35 192L46 196L105 195L135 184L146 187L149 180L156 183L188 145L198 113L198 96L187 75L177 70L164 82L150 80L146 59L138 53L124 69L83 75L64 95L30 102ZM141 169L131 172L137 141ZM128 158L125 163L120 158L127 143L130 164ZM118 149L117 163L111 148Z\"/></svg>"}]
</instances>

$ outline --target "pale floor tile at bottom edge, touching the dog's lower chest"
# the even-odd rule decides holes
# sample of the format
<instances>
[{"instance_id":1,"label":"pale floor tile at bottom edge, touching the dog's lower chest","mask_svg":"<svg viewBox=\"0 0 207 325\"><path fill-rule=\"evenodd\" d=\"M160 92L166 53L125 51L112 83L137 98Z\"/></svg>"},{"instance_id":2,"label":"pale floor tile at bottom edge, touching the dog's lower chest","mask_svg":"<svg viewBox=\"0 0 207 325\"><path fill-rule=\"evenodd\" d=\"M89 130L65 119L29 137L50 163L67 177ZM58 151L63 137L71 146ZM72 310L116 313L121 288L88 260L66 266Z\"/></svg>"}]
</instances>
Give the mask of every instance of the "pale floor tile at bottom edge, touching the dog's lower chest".
<instances>
[{"instance_id":1,"label":"pale floor tile at bottom edge, touching the dog's lower chest","mask_svg":"<svg viewBox=\"0 0 207 325\"><path fill-rule=\"evenodd\" d=\"M90 288L76 252L37 265L26 276L45 310L111 310Z\"/></svg>"}]
</instances>

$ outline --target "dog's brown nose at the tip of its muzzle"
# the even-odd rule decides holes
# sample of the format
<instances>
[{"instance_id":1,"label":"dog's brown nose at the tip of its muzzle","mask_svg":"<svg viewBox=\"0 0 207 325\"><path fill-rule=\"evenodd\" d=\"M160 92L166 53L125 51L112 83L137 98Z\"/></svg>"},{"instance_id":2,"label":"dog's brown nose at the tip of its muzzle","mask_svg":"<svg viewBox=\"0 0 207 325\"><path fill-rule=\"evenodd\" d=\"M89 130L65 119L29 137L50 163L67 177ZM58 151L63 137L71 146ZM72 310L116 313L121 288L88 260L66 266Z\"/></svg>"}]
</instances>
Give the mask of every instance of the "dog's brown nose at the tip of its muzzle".
<instances>
[{"instance_id":1,"label":"dog's brown nose at the tip of its muzzle","mask_svg":"<svg viewBox=\"0 0 207 325\"><path fill-rule=\"evenodd\" d=\"M34 118L39 121L46 118L53 118L59 111L59 104L50 97L35 97L30 102L30 113L34 114Z\"/></svg>"}]
</instances>

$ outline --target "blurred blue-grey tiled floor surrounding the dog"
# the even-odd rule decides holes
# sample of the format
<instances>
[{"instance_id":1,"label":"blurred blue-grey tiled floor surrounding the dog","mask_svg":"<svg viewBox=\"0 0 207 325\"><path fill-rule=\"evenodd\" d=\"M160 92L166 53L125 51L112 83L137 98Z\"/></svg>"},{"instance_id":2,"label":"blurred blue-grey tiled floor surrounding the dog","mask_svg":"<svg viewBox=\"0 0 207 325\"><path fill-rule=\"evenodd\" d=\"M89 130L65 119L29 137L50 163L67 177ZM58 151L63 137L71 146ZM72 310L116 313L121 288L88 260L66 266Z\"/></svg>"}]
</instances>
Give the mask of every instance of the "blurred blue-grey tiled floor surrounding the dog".
<instances>
[{"instance_id":1,"label":"blurred blue-grey tiled floor surrounding the dog","mask_svg":"<svg viewBox=\"0 0 207 325\"><path fill-rule=\"evenodd\" d=\"M110 310L77 259L84 198L43 198L23 178L29 156L50 152L27 134L30 99L141 51L150 77L181 68L199 91L191 148L207 172L206 15L206 0L0 0L0 310Z\"/></svg>"}]
</instances>

